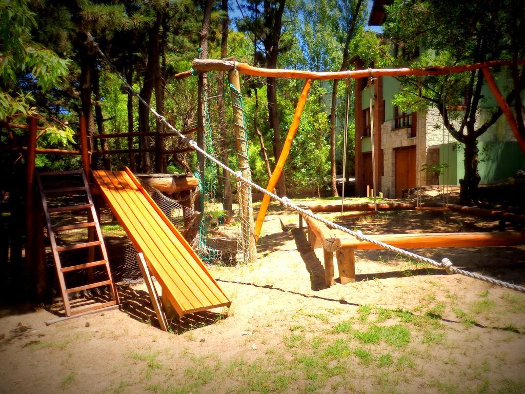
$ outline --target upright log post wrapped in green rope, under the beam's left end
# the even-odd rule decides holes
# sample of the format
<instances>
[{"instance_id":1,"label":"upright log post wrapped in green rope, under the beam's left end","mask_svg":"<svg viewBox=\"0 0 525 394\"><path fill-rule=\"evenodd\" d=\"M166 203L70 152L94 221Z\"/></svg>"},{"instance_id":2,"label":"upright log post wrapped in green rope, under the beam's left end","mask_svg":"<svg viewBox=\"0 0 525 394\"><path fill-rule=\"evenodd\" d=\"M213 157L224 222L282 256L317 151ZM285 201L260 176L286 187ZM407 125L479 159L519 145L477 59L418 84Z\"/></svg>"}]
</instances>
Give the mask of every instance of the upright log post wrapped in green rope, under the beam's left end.
<instances>
[{"instance_id":1,"label":"upright log post wrapped in green rope, under the beam's left end","mask_svg":"<svg viewBox=\"0 0 525 394\"><path fill-rule=\"evenodd\" d=\"M246 141L246 126L244 124L243 110L235 102L234 96L240 95L239 72L234 69L228 72L228 79L233 85L232 90L232 108L234 117L235 146L237 150L237 162L243 177L251 180L250 164L248 162L248 143ZM241 230L244 242L243 252L248 253L248 261L254 261L257 257L257 248L254 237L254 211L251 203L251 187L243 182L240 183L238 191L239 208L241 212Z\"/></svg>"}]
</instances>

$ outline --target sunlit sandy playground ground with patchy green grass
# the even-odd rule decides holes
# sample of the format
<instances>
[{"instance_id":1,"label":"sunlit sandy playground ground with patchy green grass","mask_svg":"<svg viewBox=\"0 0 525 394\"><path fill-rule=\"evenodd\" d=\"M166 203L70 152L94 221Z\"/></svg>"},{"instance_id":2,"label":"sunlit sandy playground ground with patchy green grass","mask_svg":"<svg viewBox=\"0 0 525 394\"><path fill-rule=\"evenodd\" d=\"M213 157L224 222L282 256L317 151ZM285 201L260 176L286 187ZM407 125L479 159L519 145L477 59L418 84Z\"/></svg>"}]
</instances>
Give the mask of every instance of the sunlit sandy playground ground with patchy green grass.
<instances>
[{"instance_id":1,"label":"sunlit sandy playground ground with patchy green grass","mask_svg":"<svg viewBox=\"0 0 525 394\"><path fill-rule=\"evenodd\" d=\"M366 233L497 226L436 212L339 222ZM143 284L119 287L122 310L50 326L46 308L2 310L0 392L525 392L524 294L382 250L356 252L355 283L323 288L321 251L278 206L258 252L256 263L210 268L229 309L171 333ZM418 252L525 283L523 246Z\"/></svg>"}]
</instances>

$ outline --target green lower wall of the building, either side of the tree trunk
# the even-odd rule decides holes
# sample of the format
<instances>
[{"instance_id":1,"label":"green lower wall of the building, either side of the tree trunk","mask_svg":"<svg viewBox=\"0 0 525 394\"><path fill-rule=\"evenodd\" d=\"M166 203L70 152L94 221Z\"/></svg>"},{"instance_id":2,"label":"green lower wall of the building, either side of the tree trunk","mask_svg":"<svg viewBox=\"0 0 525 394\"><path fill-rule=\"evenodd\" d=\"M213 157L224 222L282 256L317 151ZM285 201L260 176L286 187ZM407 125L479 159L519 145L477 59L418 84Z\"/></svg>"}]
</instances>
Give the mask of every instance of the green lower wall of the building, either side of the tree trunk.
<instances>
[{"instance_id":1,"label":"green lower wall of the building, either side of the tree trunk","mask_svg":"<svg viewBox=\"0 0 525 394\"><path fill-rule=\"evenodd\" d=\"M478 149L482 160L478 164L481 183L502 181L525 169L525 155L517 142L478 142ZM463 149L458 152L456 143L439 148L439 163L448 162L448 168L439 177L440 184L459 184L465 175L463 157Z\"/></svg>"}]
</instances>

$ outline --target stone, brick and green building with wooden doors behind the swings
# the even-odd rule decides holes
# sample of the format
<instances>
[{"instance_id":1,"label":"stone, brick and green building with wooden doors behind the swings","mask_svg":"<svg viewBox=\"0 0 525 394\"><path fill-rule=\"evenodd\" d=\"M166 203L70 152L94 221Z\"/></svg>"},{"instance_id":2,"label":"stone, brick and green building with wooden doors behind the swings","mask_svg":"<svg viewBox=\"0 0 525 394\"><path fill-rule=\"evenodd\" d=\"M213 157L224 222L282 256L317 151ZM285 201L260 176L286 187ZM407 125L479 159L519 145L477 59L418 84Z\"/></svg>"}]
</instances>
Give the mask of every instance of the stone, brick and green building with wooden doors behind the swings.
<instances>
[{"instance_id":1,"label":"stone, brick and green building with wooden doors behind the swings","mask_svg":"<svg viewBox=\"0 0 525 394\"><path fill-rule=\"evenodd\" d=\"M369 25L384 23L385 1L374 1ZM358 58L354 59L354 65L356 69L363 68L363 63ZM502 70L498 77L498 87L505 95L511 89L510 76ZM386 198L400 198L403 190L416 186L458 185L463 178L461 144L445 129L439 111L435 108L417 113L399 111L392 105L392 99L400 91L400 87L400 82L394 77L377 77L372 83L369 83L369 78L355 81L357 195L366 195L367 188L373 188L374 172L375 194L382 192ZM485 100L478 109L478 122L483 122L491 110L498 107L490 89L487 86L484 89ZM512 177L518 170L525 168L525 155L504 116L478 138L478 148L481 183ZM373 158L375 165L372 163ZM429 171L439 168L442 169L440 174Z\"/></svg>"}]
</instances>

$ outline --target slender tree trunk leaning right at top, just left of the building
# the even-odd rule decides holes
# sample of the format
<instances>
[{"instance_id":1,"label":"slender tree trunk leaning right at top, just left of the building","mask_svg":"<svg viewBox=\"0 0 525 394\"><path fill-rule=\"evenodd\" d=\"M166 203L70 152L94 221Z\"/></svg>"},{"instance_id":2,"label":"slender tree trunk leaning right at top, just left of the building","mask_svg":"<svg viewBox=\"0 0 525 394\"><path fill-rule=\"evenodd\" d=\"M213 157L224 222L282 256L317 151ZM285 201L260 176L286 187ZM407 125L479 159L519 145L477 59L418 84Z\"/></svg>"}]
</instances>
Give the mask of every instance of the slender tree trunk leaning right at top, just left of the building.
<instances>
[{"instance_id":1,"label":"slender tree trunk leaning right at top, just left of the building","mask_svg":"<svg viewBox=\"0 0 525 394\"><path fill-rule=\"evenodd\" d=\"M343 50L343 61L341 65L341 71L348 69L348 60L349 60L349 51L350 41L355 30L355 22L359 17L359 10L361 9L362 0L358 0L355 5L354 12L352 14L352 21L350 22L350 27L348 33L346 34L346 41L344 43ZM336 171L335 171L335 113L337 111L337 88L339 85L339 79L333 80L333 89L332 89L332 105L330 107L330 189L333 196L337 196L337 182L336 182ZM344 174L343 174L344 178ZM343 180L344 182L344 180Z\"/></svg>"}]
</instances>

